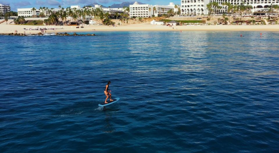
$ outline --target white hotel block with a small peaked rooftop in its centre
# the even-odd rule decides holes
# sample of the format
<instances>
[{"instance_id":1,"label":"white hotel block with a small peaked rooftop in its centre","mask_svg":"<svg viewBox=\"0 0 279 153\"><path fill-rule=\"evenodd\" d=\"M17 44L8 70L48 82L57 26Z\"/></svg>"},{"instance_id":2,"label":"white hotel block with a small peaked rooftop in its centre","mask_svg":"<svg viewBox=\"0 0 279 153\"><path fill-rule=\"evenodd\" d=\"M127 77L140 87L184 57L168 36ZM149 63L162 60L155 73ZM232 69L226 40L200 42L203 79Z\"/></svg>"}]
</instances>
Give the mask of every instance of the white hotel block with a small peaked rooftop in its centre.
<instances>
[{"instance_id":1,"label":"white hotel block with a small peaked rooftop in its centre","mask_svg":"<svg viewBox=\"0 0 279 153\"><path fill-rule=\"evenodd\" d=\"M153 6L149 4L139 4L135 2L130 5L130 18L131 17L152 17Z\"/></svg>"}]
</instances>

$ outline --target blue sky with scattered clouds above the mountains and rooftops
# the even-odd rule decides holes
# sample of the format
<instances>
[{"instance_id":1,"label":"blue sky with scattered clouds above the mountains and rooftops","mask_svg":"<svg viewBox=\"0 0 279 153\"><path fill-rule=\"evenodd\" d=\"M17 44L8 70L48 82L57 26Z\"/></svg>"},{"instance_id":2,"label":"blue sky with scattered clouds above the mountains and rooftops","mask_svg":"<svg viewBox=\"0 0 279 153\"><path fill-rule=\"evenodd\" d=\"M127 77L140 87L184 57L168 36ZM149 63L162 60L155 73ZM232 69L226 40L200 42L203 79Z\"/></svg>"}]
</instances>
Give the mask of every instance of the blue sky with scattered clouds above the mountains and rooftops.
<instances>
[{"instance_id":1,"label":"blue sky with scattered clouds above the mountains and rooftops","mask_svg":"<svg viewBox=\"0 0 279 153\"><path fill-rule=\"evenodd\" d=\"M103 6L110 6L112 4L120 4L125 1L130 0L0 0L0 4L10 5L12 11L17 12L17 8L58 8L58 5L61 5L64 8L67 8L71 5L80 5L84 6L91 3L99 3ZM135 2L135 1L132 1ZM142 2L151 5L169 5L170 2L175 4L180 4L180 0L138 0L137 2Z\"/></svg>"}]
</instances>

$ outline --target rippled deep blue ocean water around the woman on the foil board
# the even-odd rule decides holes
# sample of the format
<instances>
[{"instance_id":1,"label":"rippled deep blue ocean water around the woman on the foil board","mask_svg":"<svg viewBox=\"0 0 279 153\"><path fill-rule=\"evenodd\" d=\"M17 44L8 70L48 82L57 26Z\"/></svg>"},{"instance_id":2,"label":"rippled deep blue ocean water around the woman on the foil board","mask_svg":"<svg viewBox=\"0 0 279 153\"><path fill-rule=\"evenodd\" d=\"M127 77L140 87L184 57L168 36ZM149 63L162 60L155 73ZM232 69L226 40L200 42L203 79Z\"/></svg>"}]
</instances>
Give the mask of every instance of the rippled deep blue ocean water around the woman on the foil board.
<instances>
[{"instance_id":1,"label":"rippled deep blue ocean water around the woman on the foil board","mask_svg":"<svg viewBox=\"0 0 279 153\"><path fill-rule=\"evenodd\" d=\"M279 152L279 32L95 34L0 36L1 153Z\"/></svg>"}]
</instances>

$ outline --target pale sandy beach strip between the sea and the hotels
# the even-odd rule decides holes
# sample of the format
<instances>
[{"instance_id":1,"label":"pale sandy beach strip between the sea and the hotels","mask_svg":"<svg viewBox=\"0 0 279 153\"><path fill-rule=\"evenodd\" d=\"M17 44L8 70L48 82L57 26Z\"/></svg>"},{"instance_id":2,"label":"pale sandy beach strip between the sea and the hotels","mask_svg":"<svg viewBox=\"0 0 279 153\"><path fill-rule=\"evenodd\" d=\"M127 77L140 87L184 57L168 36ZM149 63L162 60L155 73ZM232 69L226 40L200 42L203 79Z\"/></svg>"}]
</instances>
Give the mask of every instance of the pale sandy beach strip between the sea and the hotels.
<instances>
[{"instance_id":1,"label":"pale sandy beach strip between the sea and the hotels","mask_svg":"<svg viewBox=\"0 0 279 153\"><path fill-rule=\"evenodd\" d=\"M51 25L9 25L0 24L0 33L37 34L40 30L24 30L24 28L60 28L56 30L47 30L47 33L53 32L92 32L92 31L279 31L279 25L192 25L192 26L173 26L151 25L148 23L137 23L128 25L117 25L116 27L107 25L86 25L84 28L76 26L51 26ZM81 27L81 26L79 26ZM63 29L61 29L63 28Z\"/></svg>"}]
</instances>

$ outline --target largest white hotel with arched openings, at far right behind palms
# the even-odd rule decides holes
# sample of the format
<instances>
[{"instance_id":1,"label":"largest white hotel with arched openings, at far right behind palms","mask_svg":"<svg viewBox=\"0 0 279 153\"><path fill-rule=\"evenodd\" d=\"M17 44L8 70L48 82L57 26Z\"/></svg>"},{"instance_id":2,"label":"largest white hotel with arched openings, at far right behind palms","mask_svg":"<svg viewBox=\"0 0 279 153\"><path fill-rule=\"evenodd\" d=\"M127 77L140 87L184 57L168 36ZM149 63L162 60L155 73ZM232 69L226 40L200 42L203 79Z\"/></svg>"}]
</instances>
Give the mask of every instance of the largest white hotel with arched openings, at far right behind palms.
<instances>
[{"instance_id":1,"label":"largest white hotel with arched openings, at far right behind palms","mask_svg":"<svg viewBox=\"0 0 279 153\"><path fill-rule=\"evenodd\" d=\"M222 3L228 2L233 5L251 5L253 12L268 8L271 4L279 4L279 0L181 0L181 14L208 14L206 5L210 2L218 2L221 9L217 9L217 13L226 13L227 6Z\"/></svg>"}]
</instances>

